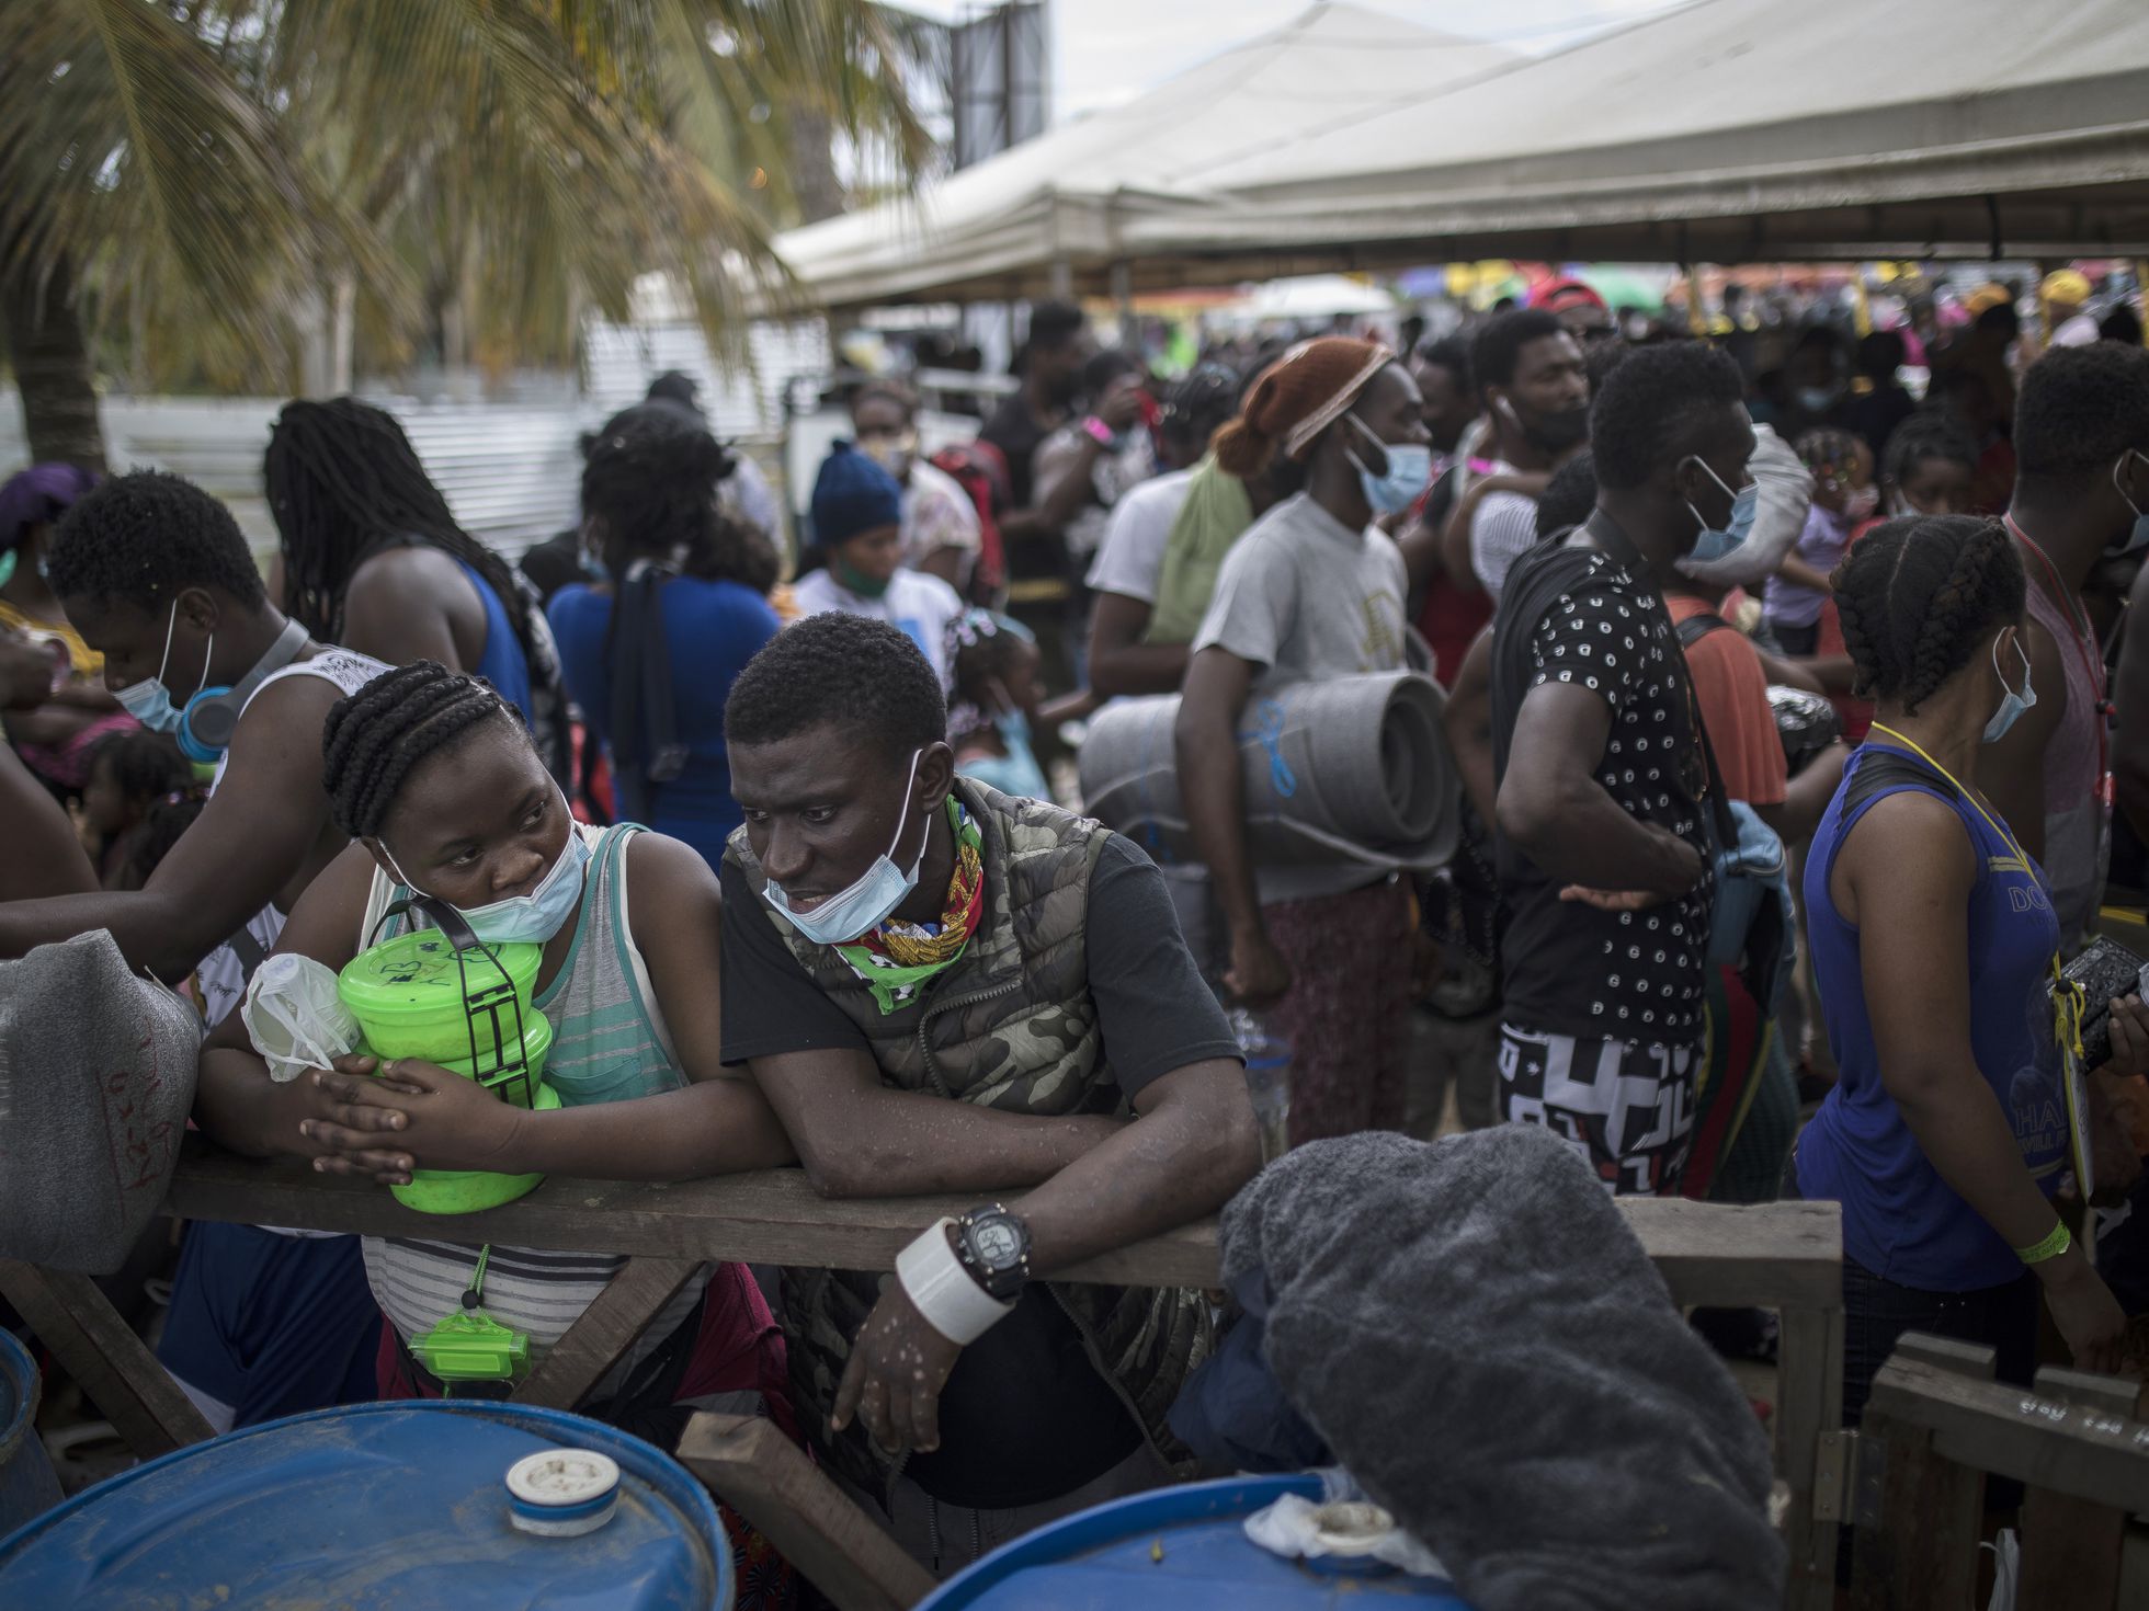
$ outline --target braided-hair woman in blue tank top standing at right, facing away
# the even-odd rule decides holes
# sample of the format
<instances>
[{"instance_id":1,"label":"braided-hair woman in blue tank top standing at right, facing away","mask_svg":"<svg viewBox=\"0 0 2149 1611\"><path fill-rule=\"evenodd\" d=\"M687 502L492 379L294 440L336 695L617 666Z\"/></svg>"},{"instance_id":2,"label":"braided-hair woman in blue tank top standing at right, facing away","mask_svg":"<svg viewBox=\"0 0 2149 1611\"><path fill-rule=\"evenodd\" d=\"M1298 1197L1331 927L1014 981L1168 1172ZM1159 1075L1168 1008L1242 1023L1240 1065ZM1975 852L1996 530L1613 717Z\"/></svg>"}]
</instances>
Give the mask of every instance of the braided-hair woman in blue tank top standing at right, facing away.
<instances>
[{"instance_id":1,"label":"braided-hair woman in blue tank top standing at right, facing away","mask_svg":"<svg viewBox=\"0 0 2149 1611\"><path fill-rule=\"evenodd\" d=\"M2039 1285L2085 1368L2117 1364L2123 1317L2050 1205L2069 1164L2052 887L1979 793L1979 752L2037 700L2022 558L1999 520L1891 520L1833 591L1876 715L1805 861L1842 1080L1792 1169L1844 1205L1857 1424L1904 1332L1986 1342L2029 1385ZM2110 1068L2149 1068L2140 1001L2110 1003Z\"/></svg>"}]
</instances>

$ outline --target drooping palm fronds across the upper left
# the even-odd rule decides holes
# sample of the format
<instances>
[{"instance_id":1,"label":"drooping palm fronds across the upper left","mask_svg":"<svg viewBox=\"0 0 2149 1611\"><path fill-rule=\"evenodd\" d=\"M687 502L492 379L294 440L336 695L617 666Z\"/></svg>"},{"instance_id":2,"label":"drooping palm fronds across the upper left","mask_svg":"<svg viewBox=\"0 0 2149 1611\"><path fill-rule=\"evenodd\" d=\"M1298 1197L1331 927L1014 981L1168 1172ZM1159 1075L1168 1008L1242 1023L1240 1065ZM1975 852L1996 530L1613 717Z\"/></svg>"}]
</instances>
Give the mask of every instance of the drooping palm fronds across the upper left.
<instances>
[{"instance_id":1,"label":"drooping palm fronds across the upper left","mask_svg":"<svg viewBox=\"0 0 2149 1611\"><path fill-rule=\"evenodd\" d=\"M860 0L28 0L0 266L71 258L198 374L288 369L337 281L380 357L557 359L651 271L722 335L780 277L793 120L924 155L911 60Z\"/></svg>"}]
</instances>

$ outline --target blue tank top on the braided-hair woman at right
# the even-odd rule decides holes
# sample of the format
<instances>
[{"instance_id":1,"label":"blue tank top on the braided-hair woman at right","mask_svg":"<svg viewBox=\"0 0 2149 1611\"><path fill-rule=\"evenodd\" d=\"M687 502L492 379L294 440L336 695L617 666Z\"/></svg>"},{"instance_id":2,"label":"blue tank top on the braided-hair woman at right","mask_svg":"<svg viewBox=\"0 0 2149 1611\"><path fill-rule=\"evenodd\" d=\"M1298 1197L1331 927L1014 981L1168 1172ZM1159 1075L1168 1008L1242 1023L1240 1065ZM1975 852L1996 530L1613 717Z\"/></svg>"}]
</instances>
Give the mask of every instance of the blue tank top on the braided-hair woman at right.
<instances>
[{"instance_id":1,"label":"blue tank top on the braided-hair woman at right","mask_svg":"<svg viewBox=\"0 0 2149 1611\"><path fill-rule=\"evenodd\" d=\"M1887 767L1887 778L1859 775ZM1880 1080L1859 930L1829 898L1844 840L1874 803L1915 790L1949 806L1977 848L1971 887L1971 1050L2014 1130L2031 1177L2050 1194L2067 1160L2067 1108L2046 986L2059 949L2052 887L1953 784L1885 739L1844 769L1805 859L1814 982L1842 1078L1799 1136L1799 1192L1844 1205L1844 1252L1874 1274L1923 1291L1999 1287L2022 1274L2001 1235L1941 1179Z\"/></svg>"}]
</instances>

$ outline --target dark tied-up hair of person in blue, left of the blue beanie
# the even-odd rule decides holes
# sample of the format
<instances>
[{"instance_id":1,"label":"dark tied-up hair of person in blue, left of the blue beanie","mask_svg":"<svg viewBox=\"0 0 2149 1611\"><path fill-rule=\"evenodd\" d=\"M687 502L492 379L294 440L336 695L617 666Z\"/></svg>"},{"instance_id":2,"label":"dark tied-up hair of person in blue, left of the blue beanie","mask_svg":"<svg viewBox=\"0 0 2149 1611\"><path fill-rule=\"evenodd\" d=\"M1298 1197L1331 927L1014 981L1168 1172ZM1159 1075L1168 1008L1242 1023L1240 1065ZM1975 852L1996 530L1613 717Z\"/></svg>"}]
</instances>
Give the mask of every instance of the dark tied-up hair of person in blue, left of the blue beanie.
<instances>
[{"instance_id":1,"label":"dark tied-up hair of person in blue, left of the blue beanie","mask_svg":"<svg viewBox=\"0 0 2149 1611\"><path fill-rule=\"evenodd\" d=\"M776 543L726 516L716 485L737 460L694 415L636 404L585 438L582 513L604 522L604 563L679 558L688 576L767 595L782 576Z\"/></svg>"}]
</instances>

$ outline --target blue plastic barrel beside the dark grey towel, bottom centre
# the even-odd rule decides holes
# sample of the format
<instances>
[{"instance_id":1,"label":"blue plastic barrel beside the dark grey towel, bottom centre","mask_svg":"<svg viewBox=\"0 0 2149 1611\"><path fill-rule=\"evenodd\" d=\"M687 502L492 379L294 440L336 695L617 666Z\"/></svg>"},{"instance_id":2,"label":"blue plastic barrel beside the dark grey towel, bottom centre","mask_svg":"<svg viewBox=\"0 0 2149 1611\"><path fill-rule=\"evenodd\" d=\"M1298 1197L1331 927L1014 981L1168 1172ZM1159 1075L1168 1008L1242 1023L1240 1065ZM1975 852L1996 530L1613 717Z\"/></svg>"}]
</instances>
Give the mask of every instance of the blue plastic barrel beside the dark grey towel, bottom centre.
<instances>
[{"instance_id":1,"label":"blue plastic barrel beside the dark grey towel, bottom centre","mask_svg":"<svg viewBox=\"0 0 2149 1611\"><path fill-rule=\"evenodd\" d=\"M995 1549L918 1611L1324 1611L1371 1598L1397 1611L1470 1611L1440 1579L1324 1572L1270 1555L1244 1523L1285 1493L1319 1499L1322 1482L1229 1478L1113 1499Z\"/></svg>"}]
</instances>

